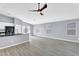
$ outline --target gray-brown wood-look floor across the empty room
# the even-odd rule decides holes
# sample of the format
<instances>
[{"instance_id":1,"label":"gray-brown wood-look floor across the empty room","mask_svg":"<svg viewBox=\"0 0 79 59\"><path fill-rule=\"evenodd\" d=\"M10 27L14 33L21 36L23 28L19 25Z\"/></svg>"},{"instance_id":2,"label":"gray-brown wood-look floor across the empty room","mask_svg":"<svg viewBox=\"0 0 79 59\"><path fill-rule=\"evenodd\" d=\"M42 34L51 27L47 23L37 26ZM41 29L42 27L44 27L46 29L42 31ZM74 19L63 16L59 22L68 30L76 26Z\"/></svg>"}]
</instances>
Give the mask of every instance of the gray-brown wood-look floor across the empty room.
<instances>
[{"instance_id":1,"label":"gray-brown wood-look floor across the empty room","mask_svg":"<svg viewBox=\"0 0 79 59\"><path fill-rule=\"evenodd\" d=\"M79 56L79 43L30 37L30 41L1 49L0 56Z\"/></svg>"}]
</instances>

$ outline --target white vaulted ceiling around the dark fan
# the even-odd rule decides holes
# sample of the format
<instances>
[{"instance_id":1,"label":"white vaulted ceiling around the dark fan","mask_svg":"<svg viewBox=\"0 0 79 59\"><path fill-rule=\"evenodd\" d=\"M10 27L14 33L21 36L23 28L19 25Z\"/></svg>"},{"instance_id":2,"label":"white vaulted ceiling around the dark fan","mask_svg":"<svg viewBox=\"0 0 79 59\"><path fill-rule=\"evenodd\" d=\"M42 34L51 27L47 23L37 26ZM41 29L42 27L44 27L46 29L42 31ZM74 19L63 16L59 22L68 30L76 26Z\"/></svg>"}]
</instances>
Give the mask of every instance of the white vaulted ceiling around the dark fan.
<instances>
[{"instance_id":1,"label":"white vaulted ceiling around the dark fan","mask_svg":"<svg viewBox=\"0 0 79 59\"><path fill-rule=\"evenodd\" d=\"M43 11L43 16L37 12L28 11L37 9L36 3L0 3L0 13L17 17L30 24L79 18L79 4L48 3L47 5L47 9Z\"/></svg>"}]
</instances>

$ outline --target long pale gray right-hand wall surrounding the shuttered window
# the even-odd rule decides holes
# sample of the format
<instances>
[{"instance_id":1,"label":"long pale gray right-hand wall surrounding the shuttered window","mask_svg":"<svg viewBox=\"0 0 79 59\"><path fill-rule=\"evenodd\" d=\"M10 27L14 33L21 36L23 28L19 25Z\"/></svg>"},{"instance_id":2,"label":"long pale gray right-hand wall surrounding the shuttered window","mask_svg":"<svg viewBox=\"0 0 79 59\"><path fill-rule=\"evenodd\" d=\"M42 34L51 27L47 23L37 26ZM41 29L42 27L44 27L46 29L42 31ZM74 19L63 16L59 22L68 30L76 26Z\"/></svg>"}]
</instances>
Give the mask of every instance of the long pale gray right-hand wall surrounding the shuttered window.
<instances>
[{"instance_id":1,"label":"long pale gray right-hand wall surrounding the shuttered window","mask_svg":"<svg viewBox=\"0 0 79 59\"><path fill-rule=\"evenodd\" d=\"M67 34L67 24L69 23L76 23L76 35ZM53 39L78 41L79 19L34 25L34 35Z\"/></svg>"}]
</instances>

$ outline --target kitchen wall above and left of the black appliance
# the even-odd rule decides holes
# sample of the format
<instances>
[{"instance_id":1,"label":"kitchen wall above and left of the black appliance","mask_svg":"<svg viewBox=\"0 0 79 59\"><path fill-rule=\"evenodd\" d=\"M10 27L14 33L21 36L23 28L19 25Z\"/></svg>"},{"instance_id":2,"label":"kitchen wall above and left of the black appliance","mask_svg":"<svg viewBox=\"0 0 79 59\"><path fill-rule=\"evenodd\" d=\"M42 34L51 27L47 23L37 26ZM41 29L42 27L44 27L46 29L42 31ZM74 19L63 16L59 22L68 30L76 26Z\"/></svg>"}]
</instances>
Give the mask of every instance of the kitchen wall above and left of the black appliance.
<instances>
[{"instance_id":1,"label":"kitchen wall above and left of the black appliance","mask_svg":"<svg viewBox=\"0 0 79 59\"><path fill-rule=\"evenodd\" d=\"M0 14L0 32L5 31L5 26L14 26L14 20L11 17Z\"/></svg>"}]
</instances>

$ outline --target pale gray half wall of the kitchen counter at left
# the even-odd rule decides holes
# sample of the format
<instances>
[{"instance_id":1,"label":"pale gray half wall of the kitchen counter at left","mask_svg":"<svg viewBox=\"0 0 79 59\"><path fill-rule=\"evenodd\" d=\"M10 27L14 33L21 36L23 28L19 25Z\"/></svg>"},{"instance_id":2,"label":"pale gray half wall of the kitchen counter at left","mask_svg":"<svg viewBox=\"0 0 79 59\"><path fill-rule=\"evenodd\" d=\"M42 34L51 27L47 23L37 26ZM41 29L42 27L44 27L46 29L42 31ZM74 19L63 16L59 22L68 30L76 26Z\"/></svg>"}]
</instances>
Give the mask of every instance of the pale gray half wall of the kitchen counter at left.
<instances>
[{"instance_id":1,"label":"pale gray half wall of the kitchen counter at left","mask_svg":"<svg viewBox=\"0 0 79 59\"><path fill-rule=\"evenodd\" d=\"M19 34L0 37L0 49L18 45L29 41L29 34Z\"/></svg>"}]
</instances>

